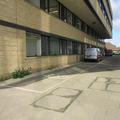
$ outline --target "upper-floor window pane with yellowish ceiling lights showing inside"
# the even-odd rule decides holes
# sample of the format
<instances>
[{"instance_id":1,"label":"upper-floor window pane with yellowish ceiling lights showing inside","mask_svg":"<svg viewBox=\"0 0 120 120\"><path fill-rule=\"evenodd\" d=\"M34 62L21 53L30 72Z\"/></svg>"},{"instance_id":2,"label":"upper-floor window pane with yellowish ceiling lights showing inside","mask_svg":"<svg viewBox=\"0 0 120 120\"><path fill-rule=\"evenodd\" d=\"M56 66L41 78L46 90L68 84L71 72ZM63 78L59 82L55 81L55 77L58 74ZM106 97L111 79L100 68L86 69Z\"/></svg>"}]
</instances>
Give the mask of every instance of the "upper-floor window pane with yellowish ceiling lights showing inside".
<instances>
[{"instance_id":1,"label":"upper-floor window pane with yellowish ceiling lights showing inside","mask_svg":"<svg viewBox=\"0 0 120 120\"><path fill-rule=\"evenodd\" d=\"M56 0L49 0L49 13L59 17L59 3Z\"/></svg>"}]
</instances>

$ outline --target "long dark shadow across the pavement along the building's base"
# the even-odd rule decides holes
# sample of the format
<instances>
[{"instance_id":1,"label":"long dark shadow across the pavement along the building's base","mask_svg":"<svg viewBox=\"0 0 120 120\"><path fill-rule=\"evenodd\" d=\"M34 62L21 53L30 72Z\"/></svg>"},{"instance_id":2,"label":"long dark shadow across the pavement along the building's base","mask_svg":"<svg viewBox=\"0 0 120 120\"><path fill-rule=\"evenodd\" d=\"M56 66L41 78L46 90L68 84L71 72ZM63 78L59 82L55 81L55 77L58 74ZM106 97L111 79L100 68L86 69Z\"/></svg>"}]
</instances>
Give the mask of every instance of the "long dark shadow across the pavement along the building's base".
<instances>
[{"instance_id":1,"label":"long dark shadow across the pavement along the building's base","mask_svg":"<svg viewBox=\"0 0 120 120\"><path fill-rule=\"evenodd\" d=\"M66 75L72 75L72 74L104 72L104 71L114 71L114 70L120 70L120 57L119 56L107 57L105 58L105 60L101 61L100 63L83 62L83 63L72 65L66 68L53 70L52 72L48 72L42 75L39 74L34 77L23 78L18 82L10 83L10 84L7 84L6 86L1 86L0 89L8 88L7 86L13 86L13 87L26 86L28 84L42 81L51 76L52 77L53 76L66 76Z\"/></svg>"}]
</instances>

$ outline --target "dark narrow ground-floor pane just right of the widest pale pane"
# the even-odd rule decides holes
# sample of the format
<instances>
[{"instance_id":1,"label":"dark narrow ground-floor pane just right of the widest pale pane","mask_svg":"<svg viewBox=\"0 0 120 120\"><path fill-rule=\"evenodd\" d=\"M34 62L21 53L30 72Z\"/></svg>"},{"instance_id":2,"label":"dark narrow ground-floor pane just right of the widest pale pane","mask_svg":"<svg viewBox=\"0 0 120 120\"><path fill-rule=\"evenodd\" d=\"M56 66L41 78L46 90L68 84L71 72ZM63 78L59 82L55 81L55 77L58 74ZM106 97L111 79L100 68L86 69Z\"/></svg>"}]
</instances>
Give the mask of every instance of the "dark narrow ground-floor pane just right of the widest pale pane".
<instances>
[{"instance_id":1,"label":"dark narrow ground-floor pane just right of the widest pale pane","mask_svg":"<svg viewBox=\"0 0 120 120\"><path fill-rule=\"evenodd\" d=\"M43 56L48 56L49 55L49 44L50 44L50 41L49 41L49 37L47 36L41 36L41 44L42 44L42 55Z\"/></svg>"}]
</instances>

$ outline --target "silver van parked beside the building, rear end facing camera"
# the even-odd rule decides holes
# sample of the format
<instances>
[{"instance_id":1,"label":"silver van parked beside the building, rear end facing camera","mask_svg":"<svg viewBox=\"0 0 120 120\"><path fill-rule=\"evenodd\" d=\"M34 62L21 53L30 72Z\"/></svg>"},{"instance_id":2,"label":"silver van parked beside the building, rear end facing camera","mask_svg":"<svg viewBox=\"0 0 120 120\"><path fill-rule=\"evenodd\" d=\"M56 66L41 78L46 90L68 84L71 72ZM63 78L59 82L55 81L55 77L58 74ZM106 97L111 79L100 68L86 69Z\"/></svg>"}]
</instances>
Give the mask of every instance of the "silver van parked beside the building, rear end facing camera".
<instances>
[{"instance_id":1,"label":"silver van parked beside the building, rear end facing camera","mask_svg":"<svg viewBox=\"0 0 120 120\"><path fill-rule=\"evenodd\" d=\"M87 48L85 50L84 60L102 60L102 53L99 48Z\"/></svg>"}]
</instances>

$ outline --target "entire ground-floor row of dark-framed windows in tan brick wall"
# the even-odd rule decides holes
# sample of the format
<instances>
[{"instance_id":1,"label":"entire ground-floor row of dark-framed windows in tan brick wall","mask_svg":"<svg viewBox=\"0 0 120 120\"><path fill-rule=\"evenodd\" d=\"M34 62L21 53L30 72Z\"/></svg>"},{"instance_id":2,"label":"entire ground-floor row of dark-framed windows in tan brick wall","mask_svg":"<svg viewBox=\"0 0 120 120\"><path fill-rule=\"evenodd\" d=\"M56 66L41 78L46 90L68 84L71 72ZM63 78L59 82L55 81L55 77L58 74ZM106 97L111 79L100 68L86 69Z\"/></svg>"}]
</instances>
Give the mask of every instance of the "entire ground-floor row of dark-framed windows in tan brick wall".
<instances>
[{"instance_id":1,"label":"entire ground-floor row of dark-framed windows in tan brick wall","mask_svg":"<svg viewBox=\"0 0 120 120\"><path fill-rule=\"evenodd\" d=\"M26 54L27 57L82 54L82 45L74 40L27 32Z\"/></svg>"}]
</instances>

